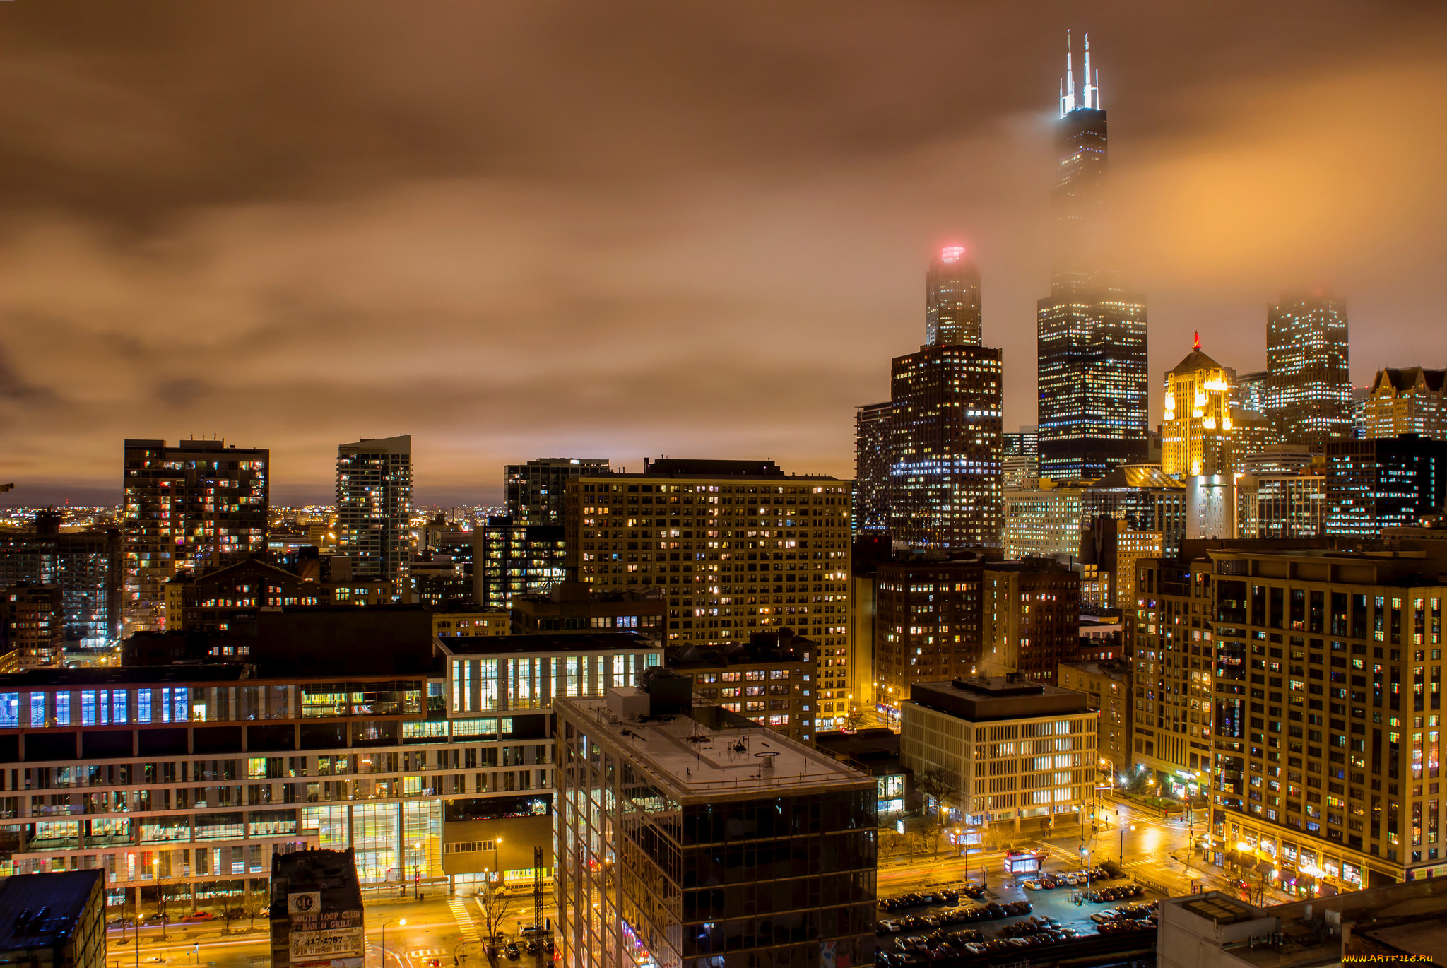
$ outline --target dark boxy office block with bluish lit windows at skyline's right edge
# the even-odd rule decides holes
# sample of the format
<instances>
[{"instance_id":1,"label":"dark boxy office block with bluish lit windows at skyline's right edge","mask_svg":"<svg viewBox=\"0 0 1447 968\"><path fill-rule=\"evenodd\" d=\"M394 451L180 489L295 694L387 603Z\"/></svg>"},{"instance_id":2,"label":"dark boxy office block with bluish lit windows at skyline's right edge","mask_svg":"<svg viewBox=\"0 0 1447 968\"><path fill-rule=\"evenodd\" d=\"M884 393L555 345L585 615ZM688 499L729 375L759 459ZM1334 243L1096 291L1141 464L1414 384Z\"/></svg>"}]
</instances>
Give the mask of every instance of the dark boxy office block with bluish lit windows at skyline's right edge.
<instances>
[{"instance_id":1,"label":"dark boxy office block with bluish lit windows at skyline's right edge","mask_svg":"<svg viewBox=\"0 0 1447 968\"><path fill-rule=\"evenodd\" d=\"M1379 538L1447 501L1447 443L1402 434L1327 441L1327 534Z\"/></svg>"}]
</instances>

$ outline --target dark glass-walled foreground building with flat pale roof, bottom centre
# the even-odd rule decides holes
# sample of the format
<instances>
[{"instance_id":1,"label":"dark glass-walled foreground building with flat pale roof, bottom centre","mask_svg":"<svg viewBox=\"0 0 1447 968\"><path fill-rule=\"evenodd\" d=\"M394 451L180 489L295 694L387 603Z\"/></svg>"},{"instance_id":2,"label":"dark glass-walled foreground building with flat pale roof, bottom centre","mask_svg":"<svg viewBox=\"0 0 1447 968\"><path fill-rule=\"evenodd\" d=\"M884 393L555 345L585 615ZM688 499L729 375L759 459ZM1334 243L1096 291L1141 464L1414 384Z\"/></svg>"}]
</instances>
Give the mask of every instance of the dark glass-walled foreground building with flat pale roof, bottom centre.
<instances>
[{"instance_id":1,"label":"dark glass-walled foreground building with flat pale roof, bottom centre","mask_svg":"<svg viewBox=\"0 0 1447 968\"><path fill-rule=\"evenodd\" d=\"M557 755L567 968L873 959L873 777L716 706L625 725L563 700Z\"/></svg>"}]
</instances>

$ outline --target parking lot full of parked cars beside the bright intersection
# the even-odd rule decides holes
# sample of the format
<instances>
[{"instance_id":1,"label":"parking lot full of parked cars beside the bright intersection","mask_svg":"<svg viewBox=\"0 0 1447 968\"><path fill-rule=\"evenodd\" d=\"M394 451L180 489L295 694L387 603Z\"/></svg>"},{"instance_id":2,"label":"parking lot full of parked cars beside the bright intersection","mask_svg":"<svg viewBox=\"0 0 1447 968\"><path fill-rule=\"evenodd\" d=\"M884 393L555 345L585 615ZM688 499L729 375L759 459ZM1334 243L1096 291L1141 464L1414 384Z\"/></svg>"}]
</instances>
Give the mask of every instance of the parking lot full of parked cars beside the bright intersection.
<instances>
[{"instance_id":1,"label":"parking lot full of parked cars beside the bright intersection","mask_svg":"<svg viewBox=\"0 0 1447 968\"><path fill-rule=\"evenodd\" d=\"M894 912L881 907L878 914L881 920L903 920L907 917L919 920L913 926L901 925L899 933L877 933L875 948L883 955L883 958L877 958L877 964L881 968L910 968L936 961L968 961L1009 951L1006 945L1017 945L1024 949L1026 945L1068 943L1074 939L1094 938L1104 933L1140 930L1137 925L1121 927L1107 925L1103 927L1097 923L1097 919L1106 922L1143 919L1149 916L1143 904L1153 900L1153 897L1147 897L1146 891L1142 890L1140 894L1133 897L1090 901L1084 899L1087 891L1084 884L1078 887L1061 886L1055 888L1027 890L1024 887L1027 880L1032 878L1024 875L1017 878L991 877L990 890L978 901L961 896L954 904L936 900L935 903L910 906ZM1126 894L1121 888L1127 886L1133 886L1127 878L1106 881L1095 881L1092 878L1090 887L1114 888L1110 893ZM959 886L951 884L946 887ZM922 893L925 893L923 888ZM1077 903L1077 899L1079 903ZM1030 910L1027 913L1003 913L998 917L969 916L971 909L988 904L1006 907L1016 901L1029 901ZM1116 919L1107 914L1123 907L1127 914L1134 914L1136 917ZM929 925L923 922L925 917L952 923ZM975 932L978 932L978 936ZM1024 945L1006 941L1019 935L1024 936ZM1033 939L1032 936L1035 935L1040 938ZM912 951L903 951L910 948L910 938L925 941L926 951L919 951L917 942ZM903 943L900 939L904 939Z\"/></svg>"}]
</instances>

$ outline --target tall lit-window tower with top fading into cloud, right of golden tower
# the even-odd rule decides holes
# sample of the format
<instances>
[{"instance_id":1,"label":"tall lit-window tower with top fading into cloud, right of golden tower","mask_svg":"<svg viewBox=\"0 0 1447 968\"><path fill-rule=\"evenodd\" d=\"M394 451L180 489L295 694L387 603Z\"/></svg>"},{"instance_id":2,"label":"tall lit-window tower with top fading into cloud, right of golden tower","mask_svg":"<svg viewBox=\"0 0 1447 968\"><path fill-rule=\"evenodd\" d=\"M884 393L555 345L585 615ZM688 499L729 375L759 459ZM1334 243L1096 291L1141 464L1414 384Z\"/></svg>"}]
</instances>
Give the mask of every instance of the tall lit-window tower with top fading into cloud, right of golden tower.
<instances>
[{"instance_id":1,"label":"tall lit-window tower with top fading into cloud, right of golden tower","mask_svg":"<svg viewBox=\"0 0 1447 968\"><path fill-rule=\"evenodd\" d=\"M1283 444L1350 438L1347 307L1333 297L1285 297L1266 314L1266 415Z\"/></svg>"}]
</instances>

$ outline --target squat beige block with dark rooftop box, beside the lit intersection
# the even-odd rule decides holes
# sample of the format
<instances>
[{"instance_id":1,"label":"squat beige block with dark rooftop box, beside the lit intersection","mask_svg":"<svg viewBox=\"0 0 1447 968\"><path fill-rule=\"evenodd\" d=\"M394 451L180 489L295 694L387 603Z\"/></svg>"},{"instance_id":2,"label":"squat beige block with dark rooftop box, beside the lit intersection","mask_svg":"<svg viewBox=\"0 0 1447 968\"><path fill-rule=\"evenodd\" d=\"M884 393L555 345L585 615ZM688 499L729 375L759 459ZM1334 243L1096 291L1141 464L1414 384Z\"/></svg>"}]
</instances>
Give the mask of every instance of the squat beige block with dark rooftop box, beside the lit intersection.
<instances>
[{"instance_id":1,"label":"squat beige block with dark rooftop box, beside the lit intersection","mask_svg":"<svg viewBox=\"0 0 1447 968\"><path fill-rule=\"evenodd\" d=\"M916 781L941 771L951 822L1045 831L1081 823L1097 777L1100 713L1082 693L1017 679L916 683L900 709L900 757Z\"/></svg>"}]
</instances>

